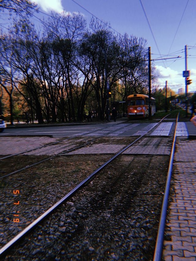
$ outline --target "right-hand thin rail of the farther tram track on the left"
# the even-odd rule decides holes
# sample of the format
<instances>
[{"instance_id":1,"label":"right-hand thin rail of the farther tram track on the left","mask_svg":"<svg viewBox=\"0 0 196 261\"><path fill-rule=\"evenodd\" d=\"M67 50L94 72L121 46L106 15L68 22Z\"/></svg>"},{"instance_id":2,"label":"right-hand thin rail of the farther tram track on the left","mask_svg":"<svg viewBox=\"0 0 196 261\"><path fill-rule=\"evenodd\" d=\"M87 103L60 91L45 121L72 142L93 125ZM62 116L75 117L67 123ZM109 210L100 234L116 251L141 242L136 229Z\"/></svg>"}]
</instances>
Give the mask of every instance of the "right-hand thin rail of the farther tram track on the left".
<instances>
[{"instance_id":1,"label":"right-hand thin rail of the farther tram track on the left","mask_svg":"<svg viewBox=\"0 0 196 261\"><path fill-rule=\"evenodd\" d=\"M158 124L158 123L157 123L157 124ZM109 127L108 127L108 128L109 128ZM105 129L105 128L103 128L103 129ZM29 165L29 166L26 166L26 167L24 167L24 168L22 168L22 169L19 169L19 170L16 170L16 171L11 172L11 173L9 173L9 174L3 175L3 176L0 177L0 180L1 180L2 178L9 177L9 176L11 176L11 175L13 175L13 174L19 173L19 172L21 172L22 170L26 170L26 169L28 169L28 168L30 168L30 167L33 167L33 166L36 166L36 165L38 165L38 164L40 164L40 163L42 163L42 162L45 162L45 161L50 160L50 159L52 159L52 158L55 158L56 156L61 156L61 155L65 154L65 153L68 153L68 152L77 150L77 149L79 149L79 148L81 148L81 147L85 147L86 145L90 144L91 142L93 142L93 141L95 141L95 140L98 140L98 139L104 137L105 135L108 135L108 134L110 134L110 133L112 133L112 132L115 132L115 131L118 131L118 130L120 130L120 129L122 129L122 127L119 128L119 129L115 129L115 130L112 130L112 131L110 131L110 132L107 132L107 133L105 133L104 135L99 136L99 137L97 137L97 138L95 138L95 139L92 139L92 140L90 140L89 142L86 142L86 143L83 144L83 145L80 145L80 146L74 147L74 148L72 148L72 149L69 149L69 150L60 152L60 153L58 153L58 154L56 154L56 155L53 155L53 156L51 156L51 157L49 157L49 158L45 158L45 159L43 159L43 160L41 160L41 161L39 161L39 162L35 162L35 163L33 163L33 164ZM92 131L92 132L94 132L94 131ZM91 133L91 132L90 132L90 133ZM86 134L89 134L89 133L86 133ZM81 136L81 135L80 135L80 136ZM73 138L73 137L72 137L72 138ZM68 146L69 146L69 145L67 145L66 147L68 147Z\"/></svg>"}]
</instances>

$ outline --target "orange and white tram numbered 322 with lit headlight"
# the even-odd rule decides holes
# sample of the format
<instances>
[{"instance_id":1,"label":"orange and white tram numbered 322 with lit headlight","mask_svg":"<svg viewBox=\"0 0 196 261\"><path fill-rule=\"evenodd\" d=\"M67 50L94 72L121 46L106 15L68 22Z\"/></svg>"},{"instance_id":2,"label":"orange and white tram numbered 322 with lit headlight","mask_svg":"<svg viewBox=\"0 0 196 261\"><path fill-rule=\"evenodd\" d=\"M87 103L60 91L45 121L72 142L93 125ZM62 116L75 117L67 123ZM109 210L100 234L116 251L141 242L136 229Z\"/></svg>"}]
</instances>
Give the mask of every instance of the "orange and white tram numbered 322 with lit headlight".
<instances>
[{"instance_id":1,"label":"orange and white tram numbered 322 with lit headlight","mask_svg":"<svg viewBox=\"0 0 196 261\"><path fill-rule=\"evenodd\" d=\"M136 117L149 116L149 97L145 94L132 94L127 97L127 117L129 119ZM151 98L152 116L155 114L155 99Z\"/></svg>"}]
</instances>

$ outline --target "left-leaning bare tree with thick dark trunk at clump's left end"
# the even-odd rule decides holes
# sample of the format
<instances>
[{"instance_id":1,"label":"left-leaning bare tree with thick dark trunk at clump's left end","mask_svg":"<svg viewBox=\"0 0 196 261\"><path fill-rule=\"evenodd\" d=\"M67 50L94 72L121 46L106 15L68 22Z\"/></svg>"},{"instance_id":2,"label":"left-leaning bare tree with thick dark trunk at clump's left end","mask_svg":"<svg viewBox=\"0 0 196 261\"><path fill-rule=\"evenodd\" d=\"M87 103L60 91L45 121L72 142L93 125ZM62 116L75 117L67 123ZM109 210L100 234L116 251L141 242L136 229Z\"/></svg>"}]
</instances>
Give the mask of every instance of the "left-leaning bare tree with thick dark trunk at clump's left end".
<instances>
[{"instance_id":1,"label":"left-leaning bare tree with thick dark trunk at clump's left end","mask_svg":"<svg viewBox=\"0 0 196 261\"><path fill-rule=\"evenodd\" d=\"M13 33L15 30L15 33ZM15 69L13 78L14 88L23 96L30 107L33 122L33 110L39 123L43 123L42 109L40 105L40 85L32 72L32 58L29 56L29 47L34 41L33 28L28 21L19 21L14 25L9 34L12 43L12 66ZM20 35L18 35L20 31ZM31 40L32 39L32 40Z\"/></svg>"}]
</instances>

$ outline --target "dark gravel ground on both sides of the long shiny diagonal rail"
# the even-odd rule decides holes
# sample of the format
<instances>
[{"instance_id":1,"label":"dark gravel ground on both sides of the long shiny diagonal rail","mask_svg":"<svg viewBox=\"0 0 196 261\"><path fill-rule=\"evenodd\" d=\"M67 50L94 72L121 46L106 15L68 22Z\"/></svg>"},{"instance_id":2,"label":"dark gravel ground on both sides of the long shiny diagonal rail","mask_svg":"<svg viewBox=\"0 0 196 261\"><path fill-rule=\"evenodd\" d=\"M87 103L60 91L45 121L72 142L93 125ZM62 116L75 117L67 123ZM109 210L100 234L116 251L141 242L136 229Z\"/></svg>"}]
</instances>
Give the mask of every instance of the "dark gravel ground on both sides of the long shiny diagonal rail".
<instances>
[{"instance_id":1,"label":"dark gravel ground on both sides of the long shiny diagonal rail","mask_svg":"<svg viewBox=\"0 0 196 261\"><path fill-rule=\"evenodd\" d=\"M21 173L20 179L7 178L6 189L17 189L16 184L22 187L23 202L20 226L13 226L12 215L3 216L5 237L11 238L8 232L19 233L83 180L89 174L86 166L91 173L106 157L91 155L87 165L86 155L61 156L43 164L40 171ZM142 161L140 155L115 159L25 237L5 260L152 260L168 159L167 155L142 155ZM80 168L77 172L76 167ZM4 190L0 211L4 213L6 207L13 213L13 197Z\"/></svg>"}]
</instances>

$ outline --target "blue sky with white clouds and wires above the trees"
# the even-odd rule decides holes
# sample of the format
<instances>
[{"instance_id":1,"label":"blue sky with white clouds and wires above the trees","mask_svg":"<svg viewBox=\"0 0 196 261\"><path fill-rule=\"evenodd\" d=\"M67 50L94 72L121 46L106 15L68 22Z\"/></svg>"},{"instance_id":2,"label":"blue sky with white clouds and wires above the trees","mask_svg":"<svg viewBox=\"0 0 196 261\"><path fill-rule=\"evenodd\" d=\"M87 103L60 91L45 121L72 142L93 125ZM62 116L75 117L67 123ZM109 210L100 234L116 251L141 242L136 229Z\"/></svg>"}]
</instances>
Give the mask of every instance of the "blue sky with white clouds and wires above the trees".
<instances>
[{"instance_id":1,"label":"blue sky with white clouds and wires above the trees","mask_svg":"<svg viewBox=\"0 0 196 261\"><path fill-rule=\"evenodd\" d=\"M187 68L193 81L188 85L188 91L196 91L195 0L34 0L33 2L38 4L41 11L48 14L51 11L61 13L63 10L69 13L80 12L87 22L93 14L105 22L110 22L111 28L122 35L127 33L143 37L147 40L147 47L151 47L152 59L172 58L154 61L153 65L156 67L157 84L160 88L165 86L167 80L168 87L176 93L179 88L185 89L183 70L187 45ZM178 56L181 58L176 58Z\"/></svg>"}]
</instances>

